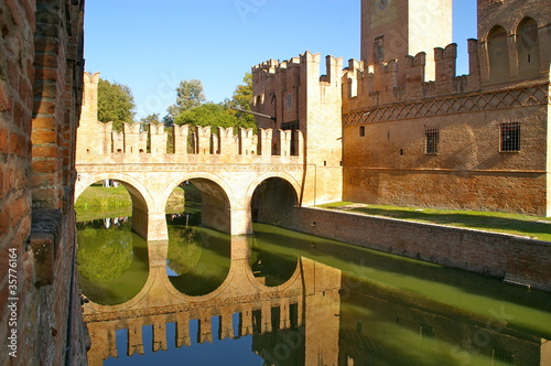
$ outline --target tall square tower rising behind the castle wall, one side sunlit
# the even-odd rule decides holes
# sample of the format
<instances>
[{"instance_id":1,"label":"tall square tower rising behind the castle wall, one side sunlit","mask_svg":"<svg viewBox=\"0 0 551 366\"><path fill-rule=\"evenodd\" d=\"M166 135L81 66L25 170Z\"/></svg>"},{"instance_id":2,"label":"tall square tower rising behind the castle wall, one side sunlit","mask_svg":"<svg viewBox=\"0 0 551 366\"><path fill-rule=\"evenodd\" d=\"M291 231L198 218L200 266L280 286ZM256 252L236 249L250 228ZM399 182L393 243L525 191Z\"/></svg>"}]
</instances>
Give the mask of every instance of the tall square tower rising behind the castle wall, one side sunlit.
<instances>
[{"instance_id":1,"label":"tall square tower rising behind the castle wall, one side sunlit","mask_svg":"<svg viewBox=\"0 0 551 366\"><path fill-rule=\"evenodd\" d=\"M452 43L452 0L361 0L361 60L375 65L426 53L434 79L434 47Z\"/></svg>"}]
</instances>

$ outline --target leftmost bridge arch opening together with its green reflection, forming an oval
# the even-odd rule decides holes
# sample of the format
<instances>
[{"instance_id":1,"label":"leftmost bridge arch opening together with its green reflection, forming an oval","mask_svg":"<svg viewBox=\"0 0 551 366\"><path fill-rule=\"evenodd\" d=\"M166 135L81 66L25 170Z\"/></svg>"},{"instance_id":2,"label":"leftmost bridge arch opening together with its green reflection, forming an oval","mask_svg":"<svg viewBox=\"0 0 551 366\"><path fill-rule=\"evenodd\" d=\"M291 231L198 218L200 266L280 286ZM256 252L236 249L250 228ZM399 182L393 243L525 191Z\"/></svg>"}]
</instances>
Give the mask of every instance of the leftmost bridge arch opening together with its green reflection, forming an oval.
<instances>
[{"instance_id":1,"label":"leftmost bridge arch opening together with its green reflection, forming an oval","mask_svg":"<svg viewBox=\"0 0 551 366\"><path fill-rule=\"evenodd\" d=\"M145 284L148 245L143 233L134 229L140 220L133 219L134 205L145 207L141 194L115 180L91 184L75 203L78 282L84 295L96 303L125 303Z\"/></svg>"}]
</instances>

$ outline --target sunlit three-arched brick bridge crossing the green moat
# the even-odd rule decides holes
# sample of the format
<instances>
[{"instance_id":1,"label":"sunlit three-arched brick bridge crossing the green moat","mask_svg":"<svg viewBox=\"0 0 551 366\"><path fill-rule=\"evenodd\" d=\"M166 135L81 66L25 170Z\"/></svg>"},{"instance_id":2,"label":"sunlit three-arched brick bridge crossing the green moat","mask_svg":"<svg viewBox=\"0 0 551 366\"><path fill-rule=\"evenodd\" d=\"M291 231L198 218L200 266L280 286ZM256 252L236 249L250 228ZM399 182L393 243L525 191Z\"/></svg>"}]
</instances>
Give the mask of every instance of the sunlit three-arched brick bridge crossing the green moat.
<instances>
[{"instance_id":1,"label":"sunlit three-arched brick bridge crossing the green moat","mask_svg":"<svg viewBox=\"0 0 551 366\"><path fill-rule=\"evenodd\" d=\"M106 130L110 126L99 123L97 127ZM126 126L126 128L125 137L128 143L132 130L131 127ZM162 126L160 129L165 133ZM176 143L182 139L182 144L186 146L187 126L175 127L174 130L181 133L176 134ZM198 137L208 136L204 140L198 138L197 150L202 153L190 154L186 151L170 154L154 151L145 153L139 152L145 150L145 146L140 149L140 143L132 146L130 150L127 148L128 152L94 153L90 150L77 161L76 196L78 197L90 184L98 181L116 180L122 183L132 198L133 229L148 240L168 239L166 202L174 189L186 181L193 183L202 193L202 224L231 235L251 233L252 197L262 184L269 185L270 187L266 189L280 195L280 200L290 203L291 207L303 202L307 169L300 155L257 154L253 147L242 148L244 138L234 139L231 129L219 129L219 132L225 133L225 139L229 140L227 144L224 143L226 141L220 143L222 153L209 152L209 128L197 128L194 133ZM250 130L240 132L240 137L245 137ZM272 131L261 131L261 133L264 136L264 146L268 144L271 149L269 139ZM140 134L144 133L136 131L136 136ZM202 149L203 142L207 147L205 148L207 153ZM240 146L238 147L236 142ZM291 141L288 142L290 147ZM238 151L239 148L242 149L242 154L224 153L227 150ZM274 179L280 183L278 184ZM284 182L289 190L282 189L281 182ZM278 193L276 192L278 190L283 191ZM285 194L291 196L284 198ZM313 203L314 197L306 200Z\"/></svg>"}]
</instances>

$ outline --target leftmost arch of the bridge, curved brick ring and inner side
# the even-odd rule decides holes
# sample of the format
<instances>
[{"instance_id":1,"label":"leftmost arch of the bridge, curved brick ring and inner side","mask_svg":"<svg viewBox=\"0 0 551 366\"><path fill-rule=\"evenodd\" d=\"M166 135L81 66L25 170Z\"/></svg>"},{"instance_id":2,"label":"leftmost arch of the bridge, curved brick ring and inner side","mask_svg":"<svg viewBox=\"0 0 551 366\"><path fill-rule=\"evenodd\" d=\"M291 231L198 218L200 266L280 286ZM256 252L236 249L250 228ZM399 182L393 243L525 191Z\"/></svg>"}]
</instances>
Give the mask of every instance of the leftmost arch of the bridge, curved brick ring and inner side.
<instances>
[{"instance_id":1,"label":"leftmost arch of the bridge, curved brick ring and inner side","mask_svg":"<svg viewBox=\"0 0 551 366\"><path fill-rule=\"evenodd\" d=\"M150 213L155 209L155 201L149 190L134 177L117 172L104 172L93 174L79 174L75 187L75 202L91 184L105 180L115 180L122 184L132 200L132 229L145 239L156 239L158 234L153 234ZM159 225L158 225L159 226ZM163 236L162 224L158 228ZM164 224L164 232L166 232L166 224ZM168 236L168 234L164 234Z\"/></svg>"}]
</instances>

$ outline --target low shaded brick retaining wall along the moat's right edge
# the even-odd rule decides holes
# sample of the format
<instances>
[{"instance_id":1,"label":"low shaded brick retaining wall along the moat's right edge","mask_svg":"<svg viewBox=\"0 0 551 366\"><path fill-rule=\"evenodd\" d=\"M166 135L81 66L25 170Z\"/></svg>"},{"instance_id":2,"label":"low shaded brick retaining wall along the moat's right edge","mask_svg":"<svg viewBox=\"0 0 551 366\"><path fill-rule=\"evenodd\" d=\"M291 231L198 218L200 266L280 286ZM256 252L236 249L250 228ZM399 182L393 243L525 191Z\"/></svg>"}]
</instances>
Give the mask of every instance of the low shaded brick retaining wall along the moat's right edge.
<instances>
[{"instance_id":1,"label":"low shaded brick retaining wall along the moat's right edge","mask_svg":"<svg viewBox=\"0 0 551 366\"><path fill-rule=\"evenodd\" d=\"M322 208L294 209L277 224L551 292L548 241Z\"/></svg>"}]
</instances>

